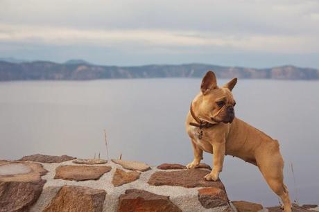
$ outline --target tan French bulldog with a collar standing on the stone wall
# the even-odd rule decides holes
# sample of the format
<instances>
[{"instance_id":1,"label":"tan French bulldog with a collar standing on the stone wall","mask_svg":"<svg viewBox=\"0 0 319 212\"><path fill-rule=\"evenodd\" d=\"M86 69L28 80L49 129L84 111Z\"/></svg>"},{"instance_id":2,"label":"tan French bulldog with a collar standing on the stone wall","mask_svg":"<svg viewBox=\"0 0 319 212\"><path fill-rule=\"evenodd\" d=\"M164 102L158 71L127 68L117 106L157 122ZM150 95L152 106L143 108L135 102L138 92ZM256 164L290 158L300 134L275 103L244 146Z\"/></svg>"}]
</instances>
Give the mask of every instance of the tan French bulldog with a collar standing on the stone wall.
<instances>
[{"instance_id":1,"label":"tan French bulldog with a collar standing on the stone wall","mask_svg":"<svg viewBox=\"0 0 319 212\"><path fill-rule=\"evenodd\" d=\"M200 164L202 151L214 152L214 167L205 179L215 181L223 170L225 155L239 157L258 166L270 188L281 198L284 211L291 211L278 141L234 116L232 89L236 82L234 78L218 87L212 71L208 71L202 79L200 94L191 103L187 115L186 128L194 154L187 168Z\"/></svg>"}]
</instances>

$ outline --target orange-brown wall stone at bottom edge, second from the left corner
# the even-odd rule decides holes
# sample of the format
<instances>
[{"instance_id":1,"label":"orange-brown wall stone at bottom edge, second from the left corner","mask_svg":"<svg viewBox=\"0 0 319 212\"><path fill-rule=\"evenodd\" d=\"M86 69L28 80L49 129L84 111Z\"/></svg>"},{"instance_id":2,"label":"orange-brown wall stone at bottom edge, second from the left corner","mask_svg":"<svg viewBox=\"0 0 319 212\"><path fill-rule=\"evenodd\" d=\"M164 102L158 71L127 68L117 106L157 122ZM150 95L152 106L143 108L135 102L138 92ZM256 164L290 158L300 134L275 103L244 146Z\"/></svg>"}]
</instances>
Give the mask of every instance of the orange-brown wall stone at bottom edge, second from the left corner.
<instances>
[{"instance_id":1,"label":"orange-brown wall stone at bottom edge, second from the left corner","mask_svg":"<svg viewBox=\"0 0 319 212\"><path fill-rule=\"evenodd\" d=\"M106 192L85 186L63 186L44 212L101 212Z\"/></svg>"}]
</instances>

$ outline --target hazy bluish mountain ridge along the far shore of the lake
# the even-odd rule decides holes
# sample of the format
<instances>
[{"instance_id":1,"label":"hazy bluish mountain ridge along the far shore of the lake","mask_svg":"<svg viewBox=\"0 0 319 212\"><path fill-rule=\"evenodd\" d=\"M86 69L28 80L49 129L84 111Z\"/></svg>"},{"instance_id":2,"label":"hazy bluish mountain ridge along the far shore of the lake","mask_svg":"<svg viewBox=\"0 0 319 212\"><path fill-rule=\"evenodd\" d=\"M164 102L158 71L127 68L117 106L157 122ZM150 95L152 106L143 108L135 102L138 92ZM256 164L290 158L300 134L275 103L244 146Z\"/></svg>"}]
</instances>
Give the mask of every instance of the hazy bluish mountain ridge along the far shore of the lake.
<instances>
[{"instance_id":1,"label":"hazy bluish mountain ridge along the far shore of the lake","mask_svg":"<svg viewBox=\"0 0 319 212\"><path fill-rule=\"evenodd\" d=\"M211 64L145 65L117 67L90 64L84 60L65 63L49 61L0 61L0 81L10 80L96 80L113 78L200 78L214 70L218 78L319 80L319 69L291 65L268 69L221 67Z\"/></svg>"}]
</instances>

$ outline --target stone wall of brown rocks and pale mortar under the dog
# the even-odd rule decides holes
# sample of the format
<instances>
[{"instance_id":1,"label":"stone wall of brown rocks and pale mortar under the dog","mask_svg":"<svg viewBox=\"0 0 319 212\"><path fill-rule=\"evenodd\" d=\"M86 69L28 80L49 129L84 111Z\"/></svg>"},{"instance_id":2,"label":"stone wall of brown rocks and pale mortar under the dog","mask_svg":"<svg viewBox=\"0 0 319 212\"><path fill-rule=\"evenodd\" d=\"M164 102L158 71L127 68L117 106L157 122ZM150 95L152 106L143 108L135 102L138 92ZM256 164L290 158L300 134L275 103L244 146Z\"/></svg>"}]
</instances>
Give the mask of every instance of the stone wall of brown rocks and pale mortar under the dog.
<instances>
[{"instance_id":1,"label":"stone wall of brown rocks and pale mortar under the dog","mask_svg":"<svg viewBox=\"0 0 319 212\"><path fill-rule=\"evenodd\" d=\"M207 164L150 167L121 159L78 160L34 154L0 160L0 211L282 211L230 201L221 181L203 179ZM319 211L316 205L293 211Z\"/></svg>"}]
</instances>

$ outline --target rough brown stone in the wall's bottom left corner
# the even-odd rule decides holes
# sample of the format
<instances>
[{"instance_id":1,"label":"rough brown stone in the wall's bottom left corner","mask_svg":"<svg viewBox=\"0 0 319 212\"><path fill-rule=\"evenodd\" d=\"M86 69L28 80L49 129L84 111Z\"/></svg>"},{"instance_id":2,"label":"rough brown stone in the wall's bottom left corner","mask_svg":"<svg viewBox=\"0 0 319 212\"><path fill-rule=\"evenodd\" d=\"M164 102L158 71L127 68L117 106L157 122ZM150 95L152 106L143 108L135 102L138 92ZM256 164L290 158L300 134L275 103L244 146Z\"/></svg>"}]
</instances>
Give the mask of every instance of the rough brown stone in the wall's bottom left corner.
<instances>
[{"instance_id":1,"label":"rough brown stone in the wall's bottom left corner","mask_svg":"<svg viewBox=\"0 0 319 212\"><path fill-rule=\"evenodd\" d=\"M0 211L28 211L40 197L45 182L0 182Z\"/></svg>"}]
</instances>

